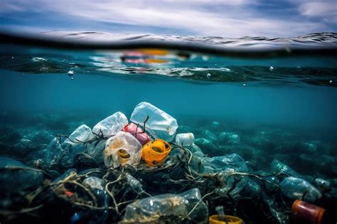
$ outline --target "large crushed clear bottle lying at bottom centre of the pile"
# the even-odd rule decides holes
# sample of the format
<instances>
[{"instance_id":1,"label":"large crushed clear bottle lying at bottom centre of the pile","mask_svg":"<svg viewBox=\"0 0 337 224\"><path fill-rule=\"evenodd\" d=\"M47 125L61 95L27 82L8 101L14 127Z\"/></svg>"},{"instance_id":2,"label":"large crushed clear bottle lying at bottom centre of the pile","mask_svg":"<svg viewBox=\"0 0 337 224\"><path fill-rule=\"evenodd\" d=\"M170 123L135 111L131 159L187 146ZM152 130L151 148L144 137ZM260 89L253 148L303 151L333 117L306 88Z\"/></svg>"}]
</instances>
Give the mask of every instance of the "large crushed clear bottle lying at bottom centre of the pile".
<instances>
[{"instance_id":1,"label":"large crushed clear bottle lying at bottom centre of the pile","mask_svg":"<svg viewBox=\"0 0 337 224\"><path fill-rule=\"evenodd\" d=\"M161 223L161 218L173 220L190 218L195 223L208 222L208 206L201 200L198 188L179 194L162 194L152 198L143 198L130 203L125 211L123 223ZM185 219L184 219L185 217Z\"/></svg>"}]
</instances>

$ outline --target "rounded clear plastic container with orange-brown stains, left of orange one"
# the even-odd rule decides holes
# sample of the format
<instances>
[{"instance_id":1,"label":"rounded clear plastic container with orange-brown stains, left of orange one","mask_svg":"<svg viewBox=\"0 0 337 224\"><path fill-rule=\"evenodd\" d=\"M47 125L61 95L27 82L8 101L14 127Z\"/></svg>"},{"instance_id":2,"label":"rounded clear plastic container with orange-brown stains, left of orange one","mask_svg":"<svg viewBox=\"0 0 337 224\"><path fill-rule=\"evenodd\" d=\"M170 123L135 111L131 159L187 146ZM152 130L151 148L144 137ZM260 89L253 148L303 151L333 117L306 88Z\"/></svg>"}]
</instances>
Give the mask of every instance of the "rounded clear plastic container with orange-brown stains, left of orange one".
<instances>
[{"instance_id":1,"label":"rounded clear plastic container with orange-brown stains, left of orange one","mask_svg":"<svg viewBox=\"0 0 337 224\"><path fill-rule=\"evenodd\" d=\"M105 166L137 166L141 159L141 144L132 134L118 132L107 139L103 154Z\"/></svg>"}]
</instances>

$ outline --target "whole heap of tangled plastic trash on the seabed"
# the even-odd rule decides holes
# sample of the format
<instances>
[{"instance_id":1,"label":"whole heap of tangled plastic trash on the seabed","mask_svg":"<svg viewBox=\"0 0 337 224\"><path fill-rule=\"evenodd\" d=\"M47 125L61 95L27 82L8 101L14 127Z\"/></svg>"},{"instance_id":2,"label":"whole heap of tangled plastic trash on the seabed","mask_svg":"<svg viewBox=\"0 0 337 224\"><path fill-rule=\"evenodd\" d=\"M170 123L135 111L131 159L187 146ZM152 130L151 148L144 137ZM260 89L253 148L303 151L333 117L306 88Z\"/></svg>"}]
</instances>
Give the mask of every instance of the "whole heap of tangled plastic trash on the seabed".
<instances>
[{"instance_id":1,"label":"whole heap of tangled plastic trash on the seabed","mask_svg":"<svg viewBox=\"0 0 337 224\"><path fill-rule=\"evenodd\" d=\"M195 140L181 130L171 115L141 102L130 120L116 112L70 135L39 132L49 144L21 140L22 150L33 149L24 161L0 156L0 221L327 222L331 208L324 207L336 203L329 181L277 159L263 171L237 153L208 156L212 142L235 144L239 134L204 130Z\"/></svg>"}]
</instances>

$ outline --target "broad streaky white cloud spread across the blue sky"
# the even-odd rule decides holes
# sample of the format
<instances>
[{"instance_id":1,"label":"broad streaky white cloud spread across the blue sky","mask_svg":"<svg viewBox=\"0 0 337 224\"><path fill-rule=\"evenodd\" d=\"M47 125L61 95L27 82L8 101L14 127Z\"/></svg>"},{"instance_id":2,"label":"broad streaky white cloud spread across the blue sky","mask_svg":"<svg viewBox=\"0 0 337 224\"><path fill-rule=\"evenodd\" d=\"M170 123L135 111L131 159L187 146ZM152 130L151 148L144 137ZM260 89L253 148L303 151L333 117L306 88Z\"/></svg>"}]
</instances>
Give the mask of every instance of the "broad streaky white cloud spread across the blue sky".
<instances>
[{"instance_id":1,"label":"broad streaky white cloud spread across the blue sky","mask_svg":"<svg viewBox=\"0 0 337 224\"><path fill-rule=\"evenodd\" d=\"M324 21L312 21L305 17L325 15L336 16L329 4L304 1L297 4L299 14L287 16L267 14L268 10L259 9L267 3L262 0L223 0L223 1L42 1L42 0L4 0L1 14L16 14L30 11L47 16L59 14L80 23L95 22L95 28L102 23L118 23L134 26L141 33L144 27L151 27L154 33L180 31L197 36L297 36L304 33L327 31L330 27ZM274 7L274 6L273 6ZM281 7L282 8L282 7ZM270 10L273 8L271 7ZM316 10L315 10L316 9ZM284 10L284 14L287 10ZM296 19L300 18L300 19ZM65 24L65 29L66 29ZM50 24L52 26L52 24ZM105 25L106 27L106 25ZM53 28L50 28L53 29ZM106 30L105 30L106 31ZM166 33L179 34L179 33Z\"/></svg>"}]
</instances>

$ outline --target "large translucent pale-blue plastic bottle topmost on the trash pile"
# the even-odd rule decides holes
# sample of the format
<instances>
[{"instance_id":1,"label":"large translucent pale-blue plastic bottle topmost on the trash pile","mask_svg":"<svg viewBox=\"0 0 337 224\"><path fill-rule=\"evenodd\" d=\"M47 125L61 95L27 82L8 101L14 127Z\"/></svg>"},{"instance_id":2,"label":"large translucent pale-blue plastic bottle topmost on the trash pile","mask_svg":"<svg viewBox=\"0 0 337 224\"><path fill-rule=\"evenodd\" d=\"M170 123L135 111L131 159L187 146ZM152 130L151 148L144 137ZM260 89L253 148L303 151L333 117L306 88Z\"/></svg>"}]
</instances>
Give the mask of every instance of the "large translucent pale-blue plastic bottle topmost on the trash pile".
<instances>
[{"instance_id":1,"label":"large translucent pale-blue plastic bottle topmost on the trash pile","mask_svg":"<svg viewBox=\"0 0 337 224\"><path fill-rule=\"evenodd\" d=\"M130 120L144 127L147 116L149 119L146 122L146 132L156 139L171 142L176 134L176 129L178 129L176 119L149 102L141 102L134 108Z\"/></svg>"}]
</instances>

